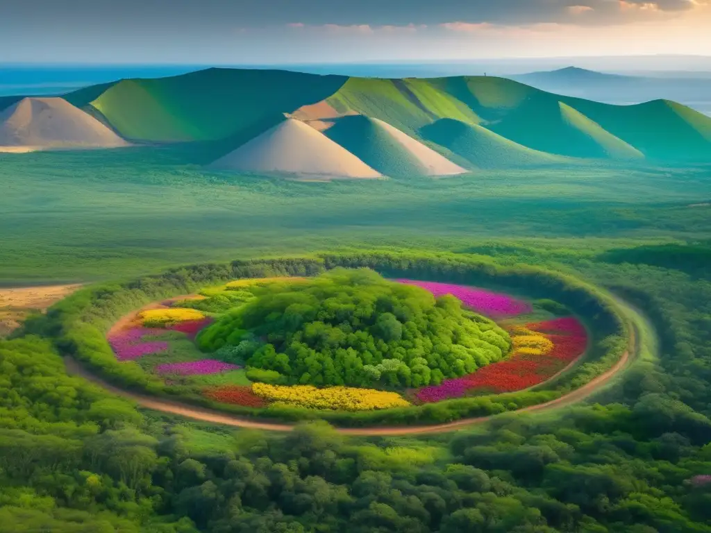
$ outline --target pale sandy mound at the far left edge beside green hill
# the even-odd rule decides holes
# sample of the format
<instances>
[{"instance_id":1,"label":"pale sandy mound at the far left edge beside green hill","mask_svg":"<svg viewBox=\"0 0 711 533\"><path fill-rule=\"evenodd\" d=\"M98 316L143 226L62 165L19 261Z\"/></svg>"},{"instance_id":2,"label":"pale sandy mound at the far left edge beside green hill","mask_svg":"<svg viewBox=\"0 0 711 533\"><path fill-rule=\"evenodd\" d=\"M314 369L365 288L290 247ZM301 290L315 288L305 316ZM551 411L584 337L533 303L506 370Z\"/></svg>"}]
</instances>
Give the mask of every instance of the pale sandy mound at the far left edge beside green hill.
<instances>
[{"instance_id":1,"label":"pale sandy mound at the far left edge beside green hill","mask_svg":"<svg viewBox=\"0 0 711 533\"><path fill-rule=\"evenodd\" d=\"M62 98L24 98L0 112L0 151L119 146L128 143Z\"/></svg>"}]
</instances>

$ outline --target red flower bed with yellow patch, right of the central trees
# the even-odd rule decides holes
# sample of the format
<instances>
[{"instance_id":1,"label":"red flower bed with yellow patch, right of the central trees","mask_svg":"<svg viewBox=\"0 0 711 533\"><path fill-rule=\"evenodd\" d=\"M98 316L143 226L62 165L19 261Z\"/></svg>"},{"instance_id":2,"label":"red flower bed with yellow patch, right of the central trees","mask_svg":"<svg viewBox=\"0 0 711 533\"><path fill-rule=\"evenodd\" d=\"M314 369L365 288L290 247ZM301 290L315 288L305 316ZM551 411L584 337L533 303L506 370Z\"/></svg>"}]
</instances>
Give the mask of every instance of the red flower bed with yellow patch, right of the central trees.
<instances>
[{"instance_id":1,"label":"red flower bed with yellow patch, right of the central trees","mask_svg":"<svg viewBox=\"0 0 711 533\"><path fill-rule=\"evenodd\" d=\"M555 332L555 333L548 333ZM472 392L515 392L550 379L587 347L587 332L576 318L528 323L510 330L513 355L482 367L473 374L445 379L442 384L419 389L419 402L433 403Z\"/></svg>"}]
</instances>

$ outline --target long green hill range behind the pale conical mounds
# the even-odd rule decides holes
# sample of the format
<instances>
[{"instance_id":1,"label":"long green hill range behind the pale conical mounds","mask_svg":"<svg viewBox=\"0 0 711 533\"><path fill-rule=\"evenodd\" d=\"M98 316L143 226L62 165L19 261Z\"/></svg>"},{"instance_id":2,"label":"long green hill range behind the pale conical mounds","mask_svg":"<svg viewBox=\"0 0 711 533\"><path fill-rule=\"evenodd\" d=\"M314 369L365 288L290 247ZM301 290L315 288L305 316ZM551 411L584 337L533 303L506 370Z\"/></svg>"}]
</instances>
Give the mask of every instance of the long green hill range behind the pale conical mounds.
<instances>
[{"instance_id":1,"label":"long green hill range behind the pale conical mounds","mask_svg":"<svg viewBox=\"0 0 711 533\"><path fill-rule=\"evenodd\" d=\"M422 140L424 131L431 136L444 135L438 144L446 147L454 142L446 131L440 131L442 124L448 123L440 124L439 129L427 130L426 126L442 119L481 126L496 136L474 128L466 130L464 138L471 137L478 149L504 152L474 156L475 149L463 146L463 140L458 150L482 166L498 165L497 161L535 161L540 158L536 151L623 161L643 157L703 161L711 148L711 118L683 105L665 100L635 106L601 104L554 95L501 77L387 80L213 68L87 87L66 99L127 139L220 141L224 153L278 124L284 114L322 122L360 114L380 119L415 139ZM355 121L342 125L346 124ZM361 122L358 127L363 131L372 128L372 124L366 126ZM336 134L345 132L336 129L331 133ZM370 131L368 135L376 134ZM392 163L396 167L407 167L401 156L395 160L400 161Z\"/></svg>"}]
</instances>

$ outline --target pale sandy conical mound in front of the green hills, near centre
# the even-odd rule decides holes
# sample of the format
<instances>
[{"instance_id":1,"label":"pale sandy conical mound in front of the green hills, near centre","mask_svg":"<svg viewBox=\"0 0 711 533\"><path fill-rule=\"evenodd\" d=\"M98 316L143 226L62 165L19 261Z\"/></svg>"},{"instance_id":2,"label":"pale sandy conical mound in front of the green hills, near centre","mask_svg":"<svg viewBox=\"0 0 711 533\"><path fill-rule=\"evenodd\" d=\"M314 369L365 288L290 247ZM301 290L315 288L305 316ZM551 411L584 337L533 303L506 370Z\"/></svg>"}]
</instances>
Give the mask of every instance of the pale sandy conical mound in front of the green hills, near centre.
<instances>
[{"instance_id":1,"label":"pale sandy conical mound in front of the green hills, near centre","mask_svg":"<svg viewBox=\"0 0 711 533\"><path fill-rule=\"evenodd\" d=\"M320 131L287 119L218 159L214 168L333 178L380 178L381 174Z\"/></svg>"}]
</instances>

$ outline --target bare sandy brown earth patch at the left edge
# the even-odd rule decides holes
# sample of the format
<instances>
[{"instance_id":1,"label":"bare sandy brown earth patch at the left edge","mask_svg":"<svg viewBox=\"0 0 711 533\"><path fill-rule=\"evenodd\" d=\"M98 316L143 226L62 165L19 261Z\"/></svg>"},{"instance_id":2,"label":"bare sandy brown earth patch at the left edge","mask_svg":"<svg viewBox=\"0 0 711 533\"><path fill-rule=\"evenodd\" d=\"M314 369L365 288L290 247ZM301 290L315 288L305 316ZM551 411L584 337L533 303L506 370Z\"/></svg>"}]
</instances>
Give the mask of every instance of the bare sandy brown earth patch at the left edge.
<instances>
[{"instance_id":1,"label":"bare sandy brown earth patch at the left edge","mask_svg":"<svg viewBox=\"0 0 711 533\"><path fill-rule=\"evenodd\" d=\"M80 284L35 287L0 287L0 337L9 335L32 312L44 312L69 296Z\"/></svg>"}]
</instances>

